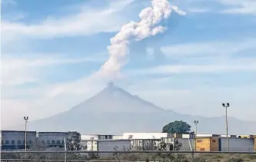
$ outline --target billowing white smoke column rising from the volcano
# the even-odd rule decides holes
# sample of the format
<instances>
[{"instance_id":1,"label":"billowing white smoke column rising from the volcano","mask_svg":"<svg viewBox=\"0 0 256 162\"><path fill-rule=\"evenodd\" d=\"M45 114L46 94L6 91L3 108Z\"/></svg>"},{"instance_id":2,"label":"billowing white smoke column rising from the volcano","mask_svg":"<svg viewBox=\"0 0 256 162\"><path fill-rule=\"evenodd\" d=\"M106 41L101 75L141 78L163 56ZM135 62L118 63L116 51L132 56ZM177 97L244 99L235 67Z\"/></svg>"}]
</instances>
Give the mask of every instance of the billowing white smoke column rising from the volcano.
<instances>
[{"instance_id":1,"label":"billowing white smoke column rising from the volcano","mask_svg":"<svg viewBox=\"0 0 256 162\"><path fill-rule=\"evenodd\" d=\"M169 18L171 11L178 12L179 15L186 15L185 12L176 6L171 6L167 0L152 0L151 7L145 8L138 15L141 21L130 21L123 25L115 37L111 38L111 45L108 46L110 57L101 66L98 73L100 75L116 78L122 66L127 63L128 45L131 41L140 41L152 35L157 35L166 30L158 25L164 18Z\"/></svg>"}]
</instances>

